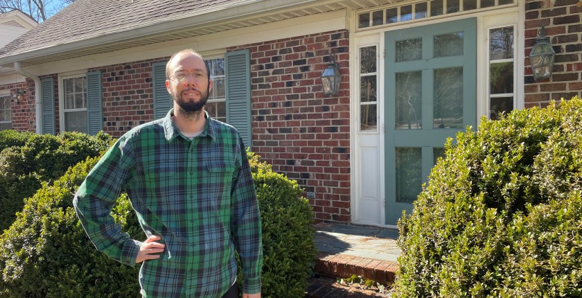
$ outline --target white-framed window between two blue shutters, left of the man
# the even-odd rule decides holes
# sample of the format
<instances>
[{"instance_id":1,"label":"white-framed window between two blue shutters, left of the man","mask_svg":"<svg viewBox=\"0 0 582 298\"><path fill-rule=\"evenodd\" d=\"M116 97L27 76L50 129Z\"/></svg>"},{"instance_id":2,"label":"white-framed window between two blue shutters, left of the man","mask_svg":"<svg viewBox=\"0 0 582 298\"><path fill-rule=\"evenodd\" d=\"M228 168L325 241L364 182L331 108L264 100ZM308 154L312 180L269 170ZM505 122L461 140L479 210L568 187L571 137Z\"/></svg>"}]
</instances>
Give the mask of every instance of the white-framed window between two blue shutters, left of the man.
<instances>
[{"instance_id":1,"label":"white-framed window between two blue shutters, left of the man","mask_svg":"<svg viewBox=\"0 0 582 298\"><path fill-rule=\"evenodd\" d=\"M63 131L87 133L87 81L85 76L63 78Z\"/></svg>"}]
</instances>

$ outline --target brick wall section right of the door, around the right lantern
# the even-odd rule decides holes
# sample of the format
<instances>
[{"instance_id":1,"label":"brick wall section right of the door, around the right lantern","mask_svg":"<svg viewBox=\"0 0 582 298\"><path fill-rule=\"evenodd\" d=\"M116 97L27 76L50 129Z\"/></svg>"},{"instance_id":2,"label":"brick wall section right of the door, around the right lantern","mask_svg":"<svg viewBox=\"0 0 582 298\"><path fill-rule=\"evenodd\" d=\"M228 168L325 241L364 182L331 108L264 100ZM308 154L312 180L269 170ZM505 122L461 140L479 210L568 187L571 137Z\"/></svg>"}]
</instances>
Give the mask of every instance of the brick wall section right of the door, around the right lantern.
<instances>
[{"instance_id":1,"label":"brick wall section right of the door, around the right lantern","mask_svg":"<svg viewBox=\"0 0 582 298\"><path fill-rule=\"evenodd\" d=\"M581 96L582 6L579 0L526 0L525 3L525 107L545 106L549 100ZM552 78L533 80L529 52L538 29L545 24L556 60Z\"/></svg>"}]
</instances>

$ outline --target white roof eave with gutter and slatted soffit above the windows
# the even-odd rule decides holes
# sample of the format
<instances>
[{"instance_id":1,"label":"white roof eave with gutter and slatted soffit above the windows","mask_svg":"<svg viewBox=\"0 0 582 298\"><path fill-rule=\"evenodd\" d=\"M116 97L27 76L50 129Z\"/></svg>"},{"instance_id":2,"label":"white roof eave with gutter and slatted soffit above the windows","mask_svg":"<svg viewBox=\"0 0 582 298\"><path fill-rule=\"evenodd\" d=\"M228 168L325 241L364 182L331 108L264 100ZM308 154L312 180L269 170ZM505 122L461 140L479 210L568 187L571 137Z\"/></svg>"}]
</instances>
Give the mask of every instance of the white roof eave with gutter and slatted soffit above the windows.
<instances>
[{"instance_id":1,"label":"white roof eave with gutter and slatted soffit above the windows","mask_svg":"<svg viewBox=\"0 0 582 298\"><path fill-rule=\"evenodd\" d=\"M87 46L87 41L98 38L89 37L85 40L72 42L76 46L69 46L70 49L66 51L58 51L56 53L43 53L46 49L39 49L28 53L23 57L19 54L13 56L12 59L0 58L0 66L12 67L12 62L19 60L22 66L30 66L34 64L42 64L46 62L53 62L58 60L67 60L71 58L78 58L86 55L94 55L99 53L107 53L118 51L122 49L129 49L135 46L145 46L148 44L156 44L159 42L168 42L171 40L180 40L187 37L197 37L210 33L218 33L221 31L244 28L248 26L255 26L259 24L267 24L276 21L283 21L285 19L293 19L295 17L303 17L306 15L317 15L324 12L333 12L336 10L358 10L363 8L371 8L375 6L383 6L389 3L399 2L400 0L327 0L327 1L306 1L290 8L283 10L270 10L258 12L252 15L245 15L244 17L236 17L231 19L221 19L218 21L207 22L206 24L196 24L194 26L182 26L181 28L168 28L168 30L161 31L155 34L141 35L134 34L134 37L125 37L120 40L100 43L94 46ZM220 10L209 12L220 17ZM156 26L150 24L149 26ZM134 28L139 30L140 28ZM125 33L127 35L127 33ZM36 55L35 55L35 52Z\"/></svg>"}]
</instances>

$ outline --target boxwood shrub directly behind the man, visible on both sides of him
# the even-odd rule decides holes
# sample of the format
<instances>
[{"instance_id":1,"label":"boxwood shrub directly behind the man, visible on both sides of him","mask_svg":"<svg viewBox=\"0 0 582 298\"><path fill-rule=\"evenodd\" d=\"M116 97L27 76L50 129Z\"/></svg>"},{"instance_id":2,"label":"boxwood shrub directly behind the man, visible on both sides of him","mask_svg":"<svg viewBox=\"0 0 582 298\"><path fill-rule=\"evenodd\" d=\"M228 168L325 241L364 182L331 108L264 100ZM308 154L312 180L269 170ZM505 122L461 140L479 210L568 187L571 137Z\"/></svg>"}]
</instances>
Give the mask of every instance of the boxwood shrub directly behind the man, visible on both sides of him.
<instances>
[{"instance_id":1,"label":"boxwood shrub directly behind the man, visible on both sides of him","mask_svg":"<svg viewBox=\"0 0 582 298\"><path fill-rule=\"evenodd\" d=\"M303 297L315 258L311 209L297 182L248 156L263 220L263 297ZM139 296L139 266L98 252L72 207L96 161L74 166L53 185L44 183L0 236L0 297ZM112 214L132 238L145 238L125 195Z\"/></svg>"}]
</instances>

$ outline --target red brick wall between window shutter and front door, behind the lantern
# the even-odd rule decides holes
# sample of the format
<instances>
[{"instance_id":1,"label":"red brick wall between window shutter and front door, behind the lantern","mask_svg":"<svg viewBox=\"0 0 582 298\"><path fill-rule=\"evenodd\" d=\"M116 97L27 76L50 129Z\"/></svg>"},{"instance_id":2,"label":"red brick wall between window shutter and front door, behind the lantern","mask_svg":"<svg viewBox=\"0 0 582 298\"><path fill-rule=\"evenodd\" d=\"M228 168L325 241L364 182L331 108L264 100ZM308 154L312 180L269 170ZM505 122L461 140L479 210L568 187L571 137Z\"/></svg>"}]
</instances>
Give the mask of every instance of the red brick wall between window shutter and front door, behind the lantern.
<instances>
[{"instance_id":1,"label":"red brick wall between window shutter and front door, behind the lantern","mask_svg":"<svg viewBox=\"0 0 582 298\"><path fill-rule=\"evenodd\" d=\"M249 49L253 151L297 179L315 218L350 221L349 33L347 30L238 46ZM321 71L336 53L342 83L325 96Z\"/></svg>"}]
</instances>

